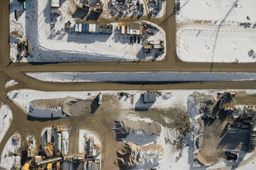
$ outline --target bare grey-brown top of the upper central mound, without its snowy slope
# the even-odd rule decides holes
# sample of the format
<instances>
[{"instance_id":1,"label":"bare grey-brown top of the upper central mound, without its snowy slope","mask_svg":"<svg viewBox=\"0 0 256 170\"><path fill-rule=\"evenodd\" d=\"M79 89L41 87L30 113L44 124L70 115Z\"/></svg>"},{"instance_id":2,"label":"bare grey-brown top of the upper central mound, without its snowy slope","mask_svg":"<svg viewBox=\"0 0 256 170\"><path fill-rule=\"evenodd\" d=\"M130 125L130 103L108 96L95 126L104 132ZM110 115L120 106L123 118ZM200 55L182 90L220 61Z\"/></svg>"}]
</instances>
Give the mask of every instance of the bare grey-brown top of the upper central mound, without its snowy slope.
<instances>
[{"instance_id":1,"label":"bare grey-brown top of the upper central mound, without its snowy slope","mask_svg":"<svg viewBox=\"0 0 256 170\"><path fill-rule=\"evenodd\" d=\"M143 131L148 134L154 134L159 136L161 133L161 125L158 122L145 122L145 121L132 121L127 119L121 119L115 121L117 137L126 138L131 134L132 130Z\"/></svg>"}]
</instances>

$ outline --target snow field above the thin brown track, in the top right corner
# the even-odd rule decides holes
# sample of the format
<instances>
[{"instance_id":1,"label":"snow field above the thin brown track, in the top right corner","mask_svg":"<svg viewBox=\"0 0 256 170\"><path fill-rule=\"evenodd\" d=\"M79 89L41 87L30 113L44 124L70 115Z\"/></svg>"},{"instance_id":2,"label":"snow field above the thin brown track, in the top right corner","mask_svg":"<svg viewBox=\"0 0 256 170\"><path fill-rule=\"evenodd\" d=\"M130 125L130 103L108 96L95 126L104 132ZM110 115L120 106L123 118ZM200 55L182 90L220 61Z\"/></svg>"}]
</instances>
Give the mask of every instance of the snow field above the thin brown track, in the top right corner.
<instances>
[{"instance_id":1,"label":"snow field above the thin brown track, in the top right corner","mask_svg":"<svg viewBox=\"0 0 256 170\"><path fill-rule=\"evenodd\" d=\"M181 10L176 15L178 21L183 20L210 20L255 22L254 0L176 0L180 2ZM247 16L250 20L247 19Z\"/></svg>"}]
</instances>

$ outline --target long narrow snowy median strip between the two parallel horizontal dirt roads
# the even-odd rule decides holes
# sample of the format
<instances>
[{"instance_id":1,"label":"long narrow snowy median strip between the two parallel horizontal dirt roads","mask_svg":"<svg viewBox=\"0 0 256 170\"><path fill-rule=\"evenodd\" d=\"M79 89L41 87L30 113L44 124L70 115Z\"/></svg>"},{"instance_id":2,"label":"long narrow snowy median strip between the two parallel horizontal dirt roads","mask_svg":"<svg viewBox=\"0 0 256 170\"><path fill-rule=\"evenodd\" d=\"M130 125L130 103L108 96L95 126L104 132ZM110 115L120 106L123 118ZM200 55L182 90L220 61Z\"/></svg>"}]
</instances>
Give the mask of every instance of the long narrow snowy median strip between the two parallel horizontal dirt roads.
<instances>
[{"instance_id":1,"label":"long narrow snowy median strip between the two parallel horizontal dirt roads","mask_svg":"<svg viewBox=\"0 0 256 170\"><path fill-rule=\"evenodd\" d=\"M255 80L255 73L215 72L97 72L97 73L26 73L28 76L52 82L120 82L120 81L231 81Z\"/></svg>"}]
</instances>

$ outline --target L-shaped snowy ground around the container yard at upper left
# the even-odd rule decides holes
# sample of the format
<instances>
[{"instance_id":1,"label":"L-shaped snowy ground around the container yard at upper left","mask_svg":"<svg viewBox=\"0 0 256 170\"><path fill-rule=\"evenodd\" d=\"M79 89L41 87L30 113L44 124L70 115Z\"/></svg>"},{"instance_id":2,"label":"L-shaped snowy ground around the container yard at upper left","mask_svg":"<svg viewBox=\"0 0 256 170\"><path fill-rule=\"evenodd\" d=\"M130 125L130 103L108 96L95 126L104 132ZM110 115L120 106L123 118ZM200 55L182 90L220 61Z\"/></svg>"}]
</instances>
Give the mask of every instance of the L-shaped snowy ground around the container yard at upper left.
<instances>
[{"instance_id":1,"label":"L-shaped snowy ground around the container yard at upper left","mask_svg":"<svg viewBox=\"0 0 256 170\"><path fill-rule=\"evenodd\" d=\"M22 13L19 21L14 20L14 11L20 10L17 6L17 0L10 0L10 32L12 30L22 31L22 38L10 38L10 58L16 62L17 50L16 43L22 39L28 39L29 53L33 56L22 58L21 62L83 62L83 61L138 61L150 60L155 53L143 53L141 44L130 45L131 35L121 35L116 30L118 23L113 24L112 34L83 34L75 33L74 28L70 33L66 33L62 29L67 21L71 21L74 26L75 20L67 13L69 1L61 1L60 11L62 15L58 17L55 27L61 31L55 34L50 31L50 7L49 1L31 1L28 0L28 9ZM26 17L26 18L25 18ZM154 36L150 36L148 40L165 40L165 33L161 27ZM116 33L119 33L116 35ZM148 35L149 36L149 35ZM142 39L140 39L142 42ZM166 46L166 45L165 45ZM166 51L166 50L165 50ZM157 58L162 60L165 56L163 53ZM154 59L155 60L155 59Z\"/></svg>"}]
</instances>

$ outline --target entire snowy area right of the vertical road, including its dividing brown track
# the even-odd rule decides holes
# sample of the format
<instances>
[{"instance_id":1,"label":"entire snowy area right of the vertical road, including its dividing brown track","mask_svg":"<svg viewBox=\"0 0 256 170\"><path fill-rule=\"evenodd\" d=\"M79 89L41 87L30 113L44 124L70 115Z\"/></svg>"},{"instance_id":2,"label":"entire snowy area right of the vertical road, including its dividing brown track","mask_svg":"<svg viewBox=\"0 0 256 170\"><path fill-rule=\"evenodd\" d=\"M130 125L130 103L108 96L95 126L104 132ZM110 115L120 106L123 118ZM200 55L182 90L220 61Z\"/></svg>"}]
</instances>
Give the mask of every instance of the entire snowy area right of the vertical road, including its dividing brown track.
<instances>
[{"instance_id":1,"label":"entire snowy area right of the vertical road, including its dividing brown track","mask_svg":"<svg viewBox=\"0 0 256 170\"><path fill-rule=\"evenodd\" d=\"M253 0L176 0L176 53L185 62L256 62ZM245 25L245 23L249 25Z\"/></svg>"}]
</instances>

